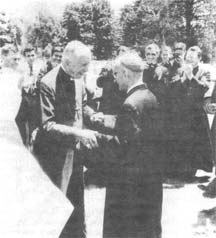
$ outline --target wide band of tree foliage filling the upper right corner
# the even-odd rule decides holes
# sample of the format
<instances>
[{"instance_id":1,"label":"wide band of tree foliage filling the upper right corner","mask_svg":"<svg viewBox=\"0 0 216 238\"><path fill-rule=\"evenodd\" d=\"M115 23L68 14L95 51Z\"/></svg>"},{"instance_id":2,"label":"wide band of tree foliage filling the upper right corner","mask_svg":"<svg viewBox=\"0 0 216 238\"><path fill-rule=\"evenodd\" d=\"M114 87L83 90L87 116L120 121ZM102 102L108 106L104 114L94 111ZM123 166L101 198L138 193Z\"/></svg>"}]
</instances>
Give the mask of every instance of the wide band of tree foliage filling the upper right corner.
<instances>
[{"instance_id":1,"label":"wide band of tree foliage filling the upper right corner","mask_svg":"<svg viewBox=\"0 0 216 238\"><path fill-rule=\"evenodd\" d=\"M121 12L123 42L207 46L215 37L214 0L137 0Z\"/></svg>"}]
</instances>

